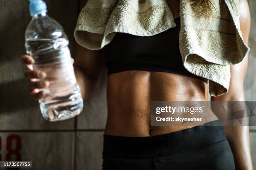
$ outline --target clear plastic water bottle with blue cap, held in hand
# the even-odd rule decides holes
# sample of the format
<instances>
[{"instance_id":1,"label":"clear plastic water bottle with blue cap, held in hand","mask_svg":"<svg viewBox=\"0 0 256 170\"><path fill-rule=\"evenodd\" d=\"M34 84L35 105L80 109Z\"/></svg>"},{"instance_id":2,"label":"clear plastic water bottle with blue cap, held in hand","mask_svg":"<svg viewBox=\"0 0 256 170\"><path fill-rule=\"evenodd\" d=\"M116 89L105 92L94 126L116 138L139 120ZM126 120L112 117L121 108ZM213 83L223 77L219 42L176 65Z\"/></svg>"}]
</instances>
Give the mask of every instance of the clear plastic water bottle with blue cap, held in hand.
<instances>
[{"instance_id":1,"label":"clear plastic water bottle with blue cap, held in hand","mask_svg":"<svg viewBox=\"0 0 256 170\"><path fill-rule=\"evenodd\" d=\"M43 0L30 0L32 20L26 30L26 51L35 60L34 70L46 72L49 87L38 100L43 117L49 121L66 120L83 109L83 100L74 75L69 41L59 23L47 15Z\"/></svg>"}]
</instances>

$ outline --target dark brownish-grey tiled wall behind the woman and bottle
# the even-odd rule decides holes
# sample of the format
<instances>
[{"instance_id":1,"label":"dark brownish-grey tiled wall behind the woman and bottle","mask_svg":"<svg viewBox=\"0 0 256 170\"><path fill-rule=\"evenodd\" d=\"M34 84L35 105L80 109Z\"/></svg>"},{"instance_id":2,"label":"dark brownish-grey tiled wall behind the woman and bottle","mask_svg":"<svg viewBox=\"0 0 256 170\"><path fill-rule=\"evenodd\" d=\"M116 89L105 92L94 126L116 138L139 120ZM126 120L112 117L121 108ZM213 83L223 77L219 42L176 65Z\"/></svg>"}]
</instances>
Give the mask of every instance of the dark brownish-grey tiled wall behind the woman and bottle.
<instances>
[{"instance_id":1,"label":"dark brownish-grey tiled wall behind the woman and bottle","mask_svg":"<svg viewBox=\"0 0 256 170\"><path fill-rule=\"evenodd\" d=\"M75 27L83 0L46 0L49 15L64 27L73 52ZM80 4L81 3L81 4ZM256 2L252 13L252 48L245 81L246 100L256 100ZM36 170L100 170L102 134L106 121L106 82L102 79L84 111L71 120L48 122L28 95L20 56L30 21L27 0L0 0L0 159L33 161ZM254 38L253 38L254 37ZM106 74L103 72L102 74ZM101 100L98 100L98 99ZM11 150L7 149L11 145ZM15 151L13 151L15 150ZM251 150L256 167L256 128L251 127ZM11 154L10 154L11 153Z\"/></svg>"}]
</instances>

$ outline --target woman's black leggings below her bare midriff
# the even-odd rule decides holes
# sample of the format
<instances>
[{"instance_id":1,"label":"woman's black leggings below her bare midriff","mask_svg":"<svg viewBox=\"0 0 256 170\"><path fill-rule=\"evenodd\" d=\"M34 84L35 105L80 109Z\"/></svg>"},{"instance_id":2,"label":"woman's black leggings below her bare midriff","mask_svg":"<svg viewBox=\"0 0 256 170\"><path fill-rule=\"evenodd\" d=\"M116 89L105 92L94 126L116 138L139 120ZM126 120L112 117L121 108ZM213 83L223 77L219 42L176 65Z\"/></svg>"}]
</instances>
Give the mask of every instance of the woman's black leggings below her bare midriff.
<instances>
[{"instance_id":1,"label":"woman's black leggings below her bare midriff","mask_svg":"<svg viewBox=\"0 0 256 170\"><path fill-rule=\"evenodd\" d=\"M104 135L102 170L235 170L219 120L152 137Z\"/></svg>"}]
</instances>

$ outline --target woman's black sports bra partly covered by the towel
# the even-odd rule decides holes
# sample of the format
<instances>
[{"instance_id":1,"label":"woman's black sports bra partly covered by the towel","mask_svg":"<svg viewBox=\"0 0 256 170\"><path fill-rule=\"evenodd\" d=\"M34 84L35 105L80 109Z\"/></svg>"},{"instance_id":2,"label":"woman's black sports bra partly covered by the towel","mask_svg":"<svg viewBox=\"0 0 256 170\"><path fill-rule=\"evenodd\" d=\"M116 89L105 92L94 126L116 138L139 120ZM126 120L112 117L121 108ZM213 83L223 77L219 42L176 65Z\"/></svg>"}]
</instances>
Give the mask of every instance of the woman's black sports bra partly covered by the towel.
<instances>
[{"instance_id":1,"label":"woman's black sports bra partly covered by the towel","mask_svg":"<svg viewBox=\"0 0 256 170\"><path fill-rule=\"evenodd\" d=\"M104 47L108 75L128 70L144 70L171 72L207 82L207 79L188 72L183 66L179 51L180 18L175 18L174 22L177 27L153 36L142 37L117 32L110 44Z\"/></svg>"}]
</instances>

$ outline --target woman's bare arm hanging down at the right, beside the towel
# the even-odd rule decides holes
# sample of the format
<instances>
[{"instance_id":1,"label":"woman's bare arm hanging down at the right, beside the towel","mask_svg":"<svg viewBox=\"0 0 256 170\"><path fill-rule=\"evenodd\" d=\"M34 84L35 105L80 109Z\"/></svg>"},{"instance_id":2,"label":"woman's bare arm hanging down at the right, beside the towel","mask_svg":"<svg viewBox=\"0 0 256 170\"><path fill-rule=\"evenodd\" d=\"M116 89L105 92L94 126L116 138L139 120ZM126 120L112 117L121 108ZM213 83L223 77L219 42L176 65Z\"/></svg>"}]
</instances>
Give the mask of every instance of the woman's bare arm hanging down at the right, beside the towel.
<instances>
[{"instance_id":1,"label":"woman's bare arm hanging down at the right, beside the towel","mask_svg":"<svg viewBox=\"0 0 256 170\"><path fill-rule=\"evenodd\" d=\"M240 28L243 41L248 44L250 32L250 10L247 0L239 0L240 3ZM231 79L228 93L218 97L212 97L215 101L245 101L243 91L243 80L246 74L248 56L242 62L230 66ZM213 110L215 111L215 110ZM217 111L218 112L218 111ZM232 149L236 170L253 170L249 127L248 126L224 126L225 134Z\"/></svg>"}]
</instances>

